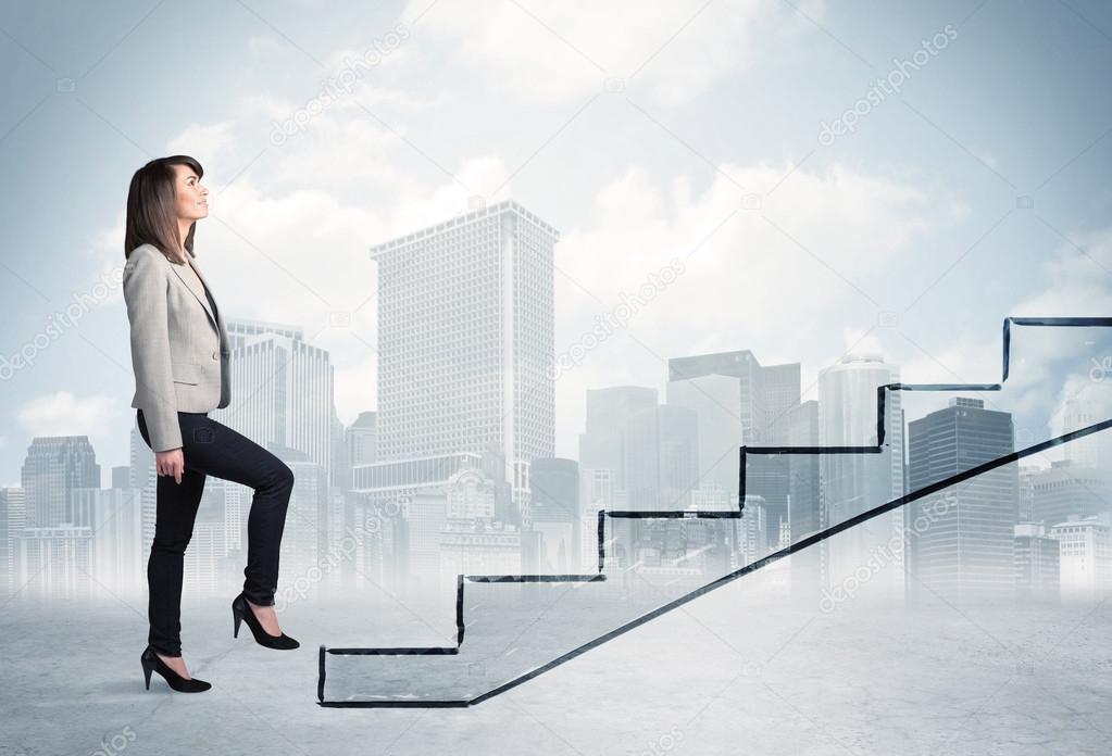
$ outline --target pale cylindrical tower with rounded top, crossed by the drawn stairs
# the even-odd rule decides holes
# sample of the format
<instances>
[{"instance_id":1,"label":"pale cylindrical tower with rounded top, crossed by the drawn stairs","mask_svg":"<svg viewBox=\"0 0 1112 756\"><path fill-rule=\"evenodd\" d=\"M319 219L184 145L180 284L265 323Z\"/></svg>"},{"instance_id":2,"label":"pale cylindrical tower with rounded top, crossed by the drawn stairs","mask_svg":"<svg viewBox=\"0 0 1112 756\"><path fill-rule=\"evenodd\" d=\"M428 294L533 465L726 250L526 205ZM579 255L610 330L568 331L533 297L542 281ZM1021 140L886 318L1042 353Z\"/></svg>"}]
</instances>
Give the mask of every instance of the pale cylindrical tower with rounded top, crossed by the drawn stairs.
<instances>
[{"instance_id":1,"label":"pale cylindrical tower with rounded top, crossed by the drawn stairs","mask_svg":"<svg viewBox=\"0 0 1112 756\"><path fill-rule=\"evenodd\" d=\"M872 446L876 439L876 389L900 381L900 369L880 355L847 355L818 374L818 437L822 446ZM826 454L820 457L823 527L903 496L903 414L898 391L885 391L882 454ZM858 568L872 574L876 596L900 598L904 591L902 509L862 523L823 541L825 585L854 578ZM872 586L881 588L875 590ZM865 591L863 591L865 593Z\"/></svg>"}]
</instances>

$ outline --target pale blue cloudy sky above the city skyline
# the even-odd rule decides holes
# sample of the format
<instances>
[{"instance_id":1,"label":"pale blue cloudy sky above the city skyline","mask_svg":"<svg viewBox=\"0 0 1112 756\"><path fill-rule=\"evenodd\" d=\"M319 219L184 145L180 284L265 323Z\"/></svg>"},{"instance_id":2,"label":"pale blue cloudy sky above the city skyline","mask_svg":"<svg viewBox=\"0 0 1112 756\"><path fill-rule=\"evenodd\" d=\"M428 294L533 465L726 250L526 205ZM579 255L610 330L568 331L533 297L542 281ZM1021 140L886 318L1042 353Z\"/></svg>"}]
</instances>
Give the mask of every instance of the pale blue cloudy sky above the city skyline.
<instances>
[{"instance_id":1,"label":"pale blue cloudy sky above the city skyline","mask_svg":"<svg viewBox=\"0 0 1112 756\"><path fill-rule=\"evenodd\" d=\"M376 406L368 249L506 199L562 235L557 354L651 291L560 372L558 456L586 389L663 401L669 357L800 361L805 398L850 349L990 382L1003 318L1112 301L1095 0L6 3L0 70L3 485L39 435L128 461L123 208L165 155L205 168L226 317L302 326L345 424ZM1092 366L1108 394L1090 336L1016 336L1020 425Z\"/></svg>"}]
</instances>

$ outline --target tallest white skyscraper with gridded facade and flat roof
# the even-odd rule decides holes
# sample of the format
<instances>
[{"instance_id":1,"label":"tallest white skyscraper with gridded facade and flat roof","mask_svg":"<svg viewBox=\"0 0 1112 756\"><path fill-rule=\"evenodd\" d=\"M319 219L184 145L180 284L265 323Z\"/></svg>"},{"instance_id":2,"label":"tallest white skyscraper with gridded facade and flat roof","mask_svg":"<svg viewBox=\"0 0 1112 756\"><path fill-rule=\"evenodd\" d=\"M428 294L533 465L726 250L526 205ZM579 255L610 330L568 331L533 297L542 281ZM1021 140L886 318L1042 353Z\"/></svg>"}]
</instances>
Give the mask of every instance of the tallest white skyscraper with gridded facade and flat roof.
<instances>
[{"instance_id":1,"label":"tallest white skyscraper with gridded facade and flat roof","mask_svg":"<svg viewBox=\"0 0 1112 756\"><path fill-rule=\"evenodd\" d=\"M553 248L514 201L371 248L378 262L378 461L494 444L523 526L528 466L556 446Z\"/></svg>"}]
</instances>

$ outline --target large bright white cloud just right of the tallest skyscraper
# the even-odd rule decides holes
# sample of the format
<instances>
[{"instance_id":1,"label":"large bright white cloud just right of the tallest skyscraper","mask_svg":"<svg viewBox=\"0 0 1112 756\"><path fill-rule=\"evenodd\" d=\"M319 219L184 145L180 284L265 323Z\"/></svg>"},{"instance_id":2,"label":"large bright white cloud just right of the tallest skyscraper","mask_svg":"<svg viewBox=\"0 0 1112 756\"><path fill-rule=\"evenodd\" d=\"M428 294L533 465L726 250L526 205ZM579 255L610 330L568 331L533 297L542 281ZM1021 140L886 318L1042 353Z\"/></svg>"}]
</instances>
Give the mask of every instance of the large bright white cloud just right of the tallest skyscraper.
<instances>
[{"instance_id":1,"label":"large bright white cloud just right of the tallest skyscraper","mask_svg":"<svg viewBox=\"0 0 1112 756\"><path fill-rule=\"evenodd\" d=\"M721 172L770 187L785 168L725 165ZM721 176L696 196L684 178L666 191L633 167L599 189L588 223L560 242L557 265L573 281L560 308L605 307L676 257L687 270L663 306L638 314L637 328L672 331L686 348L772 331L792 341L832 306L875 314L884 287L867 281L884 281L886 266L947 217L945 202L914 186L836 163L795 171L758 209L745 209Z\"/></svg>"}]
</instances>

